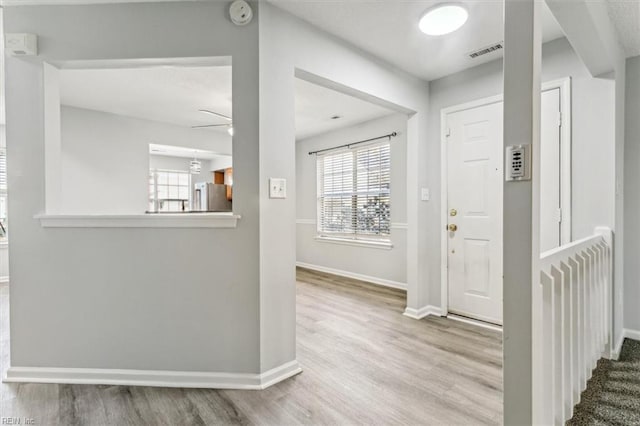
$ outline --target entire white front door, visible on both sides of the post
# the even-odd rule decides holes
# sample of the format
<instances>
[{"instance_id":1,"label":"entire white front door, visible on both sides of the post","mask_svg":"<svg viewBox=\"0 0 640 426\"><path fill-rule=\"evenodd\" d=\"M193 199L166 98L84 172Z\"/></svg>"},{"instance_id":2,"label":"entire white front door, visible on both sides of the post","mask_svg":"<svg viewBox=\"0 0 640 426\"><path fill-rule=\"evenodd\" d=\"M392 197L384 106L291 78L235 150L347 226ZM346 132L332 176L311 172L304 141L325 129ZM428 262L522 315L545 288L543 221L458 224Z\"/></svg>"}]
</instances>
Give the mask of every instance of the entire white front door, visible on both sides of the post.
<instances>
[{"instance_id":1,"label":"entire white front door, visible on both sides of the post","mask_svg":"<svg viewBox=\"0 0 640 426\"><path fill-rule=\"evenodd\" d=\"M541 96L541 252L571 240L569 91L566 79L545 84ZM501 96L442 111L444 312L496 325L502 325L502 127Z\"/></svg>"}]
</instances>

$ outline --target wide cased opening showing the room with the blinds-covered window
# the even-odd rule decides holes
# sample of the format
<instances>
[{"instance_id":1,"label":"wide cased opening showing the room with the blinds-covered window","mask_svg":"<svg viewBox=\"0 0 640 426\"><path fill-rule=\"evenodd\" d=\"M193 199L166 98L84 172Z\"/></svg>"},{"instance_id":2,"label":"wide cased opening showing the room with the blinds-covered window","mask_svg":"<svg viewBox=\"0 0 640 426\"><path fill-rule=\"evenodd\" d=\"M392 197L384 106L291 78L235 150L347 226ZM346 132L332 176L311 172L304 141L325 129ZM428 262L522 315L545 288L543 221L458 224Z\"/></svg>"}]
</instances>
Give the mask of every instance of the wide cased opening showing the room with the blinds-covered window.
<instances>
[{"instance_id":1,"label":"wide cased opening showing the room with the blinds-covered window","mask_svg":"<svg viewBox=\"0 0 640 426\"><path fill-rule=\"evenodd\" d=\"M295 79L298 267L407 290L407 115Z\"/></svg>"}]
</instances>

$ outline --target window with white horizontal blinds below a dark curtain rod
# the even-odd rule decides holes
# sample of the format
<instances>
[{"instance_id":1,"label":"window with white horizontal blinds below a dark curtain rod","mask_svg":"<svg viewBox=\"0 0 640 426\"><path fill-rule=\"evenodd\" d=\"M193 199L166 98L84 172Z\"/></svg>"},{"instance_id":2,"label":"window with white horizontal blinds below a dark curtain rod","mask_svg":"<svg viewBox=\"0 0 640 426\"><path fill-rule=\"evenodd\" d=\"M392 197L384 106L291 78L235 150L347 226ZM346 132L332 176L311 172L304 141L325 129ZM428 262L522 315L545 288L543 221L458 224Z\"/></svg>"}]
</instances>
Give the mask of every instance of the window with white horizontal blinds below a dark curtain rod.
<instances>
[{"instance_id":1,"label":"window with white horizontal blinds below a dark curtain rod","mask_svg":"<svg viewBox=\"0 0 640 426\"><path fill-rule=\"evenodd\" d=\"M318 234L386 239L391 230L388 142L318 154Z\"/></svg>"}]
</instances>

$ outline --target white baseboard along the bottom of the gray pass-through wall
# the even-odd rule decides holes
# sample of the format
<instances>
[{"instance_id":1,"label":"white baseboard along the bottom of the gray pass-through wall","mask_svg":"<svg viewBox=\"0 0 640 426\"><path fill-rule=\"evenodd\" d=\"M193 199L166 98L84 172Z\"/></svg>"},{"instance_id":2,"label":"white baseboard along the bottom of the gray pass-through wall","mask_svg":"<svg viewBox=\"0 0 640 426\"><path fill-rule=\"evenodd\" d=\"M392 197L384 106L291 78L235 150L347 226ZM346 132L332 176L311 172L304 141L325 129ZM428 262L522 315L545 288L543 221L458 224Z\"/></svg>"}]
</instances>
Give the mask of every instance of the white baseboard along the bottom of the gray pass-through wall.
<instances>
[{"instance_id":1,"label":"white baseboard along the bottom of the gray pass-through wall","mask_svg":"<svg viewBox=\"0 0 640 426\"><path fill-rule=\"evenodd\" d=\"M169 388L265 389L302 372L290 361L262 374L101 368L9 367L3 382L160 386Z\"/></svg>"}]
</instances>

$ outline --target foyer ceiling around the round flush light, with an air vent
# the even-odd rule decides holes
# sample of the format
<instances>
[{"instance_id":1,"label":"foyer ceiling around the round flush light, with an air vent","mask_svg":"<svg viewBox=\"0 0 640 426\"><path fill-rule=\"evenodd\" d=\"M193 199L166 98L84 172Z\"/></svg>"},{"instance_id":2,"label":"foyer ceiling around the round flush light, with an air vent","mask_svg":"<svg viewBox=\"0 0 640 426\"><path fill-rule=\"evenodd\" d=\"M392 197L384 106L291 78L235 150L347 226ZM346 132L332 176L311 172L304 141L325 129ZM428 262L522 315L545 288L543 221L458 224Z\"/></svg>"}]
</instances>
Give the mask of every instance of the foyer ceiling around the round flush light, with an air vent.
<instances>
[{"instance_id":1,"label":"foyer ceiling around the round flush light, with an air vent","mask_svg":"<svg viewBox=\"0 0 640 426\"><path fill-rule=\"evenodd\" d=\"M428 36L418 29L425 10L441 0L268 0L277 7L424 80L434 80L502 56L467 54L503 40L503 0L461 0L467 23L451 34ZM543 6L544 41L564 36Z\"/></svg>"}]
</instances>

